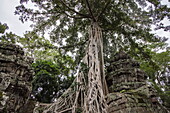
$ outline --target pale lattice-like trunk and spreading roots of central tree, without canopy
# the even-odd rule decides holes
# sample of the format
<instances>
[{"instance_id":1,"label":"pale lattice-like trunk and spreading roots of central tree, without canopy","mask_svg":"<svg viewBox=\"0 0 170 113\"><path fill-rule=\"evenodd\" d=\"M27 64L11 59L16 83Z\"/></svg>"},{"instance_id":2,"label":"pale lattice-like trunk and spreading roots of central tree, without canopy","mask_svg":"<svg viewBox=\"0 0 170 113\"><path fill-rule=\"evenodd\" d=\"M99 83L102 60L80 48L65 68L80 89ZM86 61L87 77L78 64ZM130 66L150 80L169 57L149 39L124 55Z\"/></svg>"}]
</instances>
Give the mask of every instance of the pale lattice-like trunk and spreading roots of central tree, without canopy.
<instances>
[{"instance_id":1,"label":"pale lattice-like trunk and spreading roots of central tree, without canopy","mask_svg":"<svg viewBox=\"0 0 170 113\"><path fill-rule=\"evenodd\" d=\"M102 31L97 23L90 27L89 44L82 62L89 67L87 75L84 75L80 67L73 82L78 85L68 88L55 103L45 105L43 113L76 113L78 108L82 108L83 113L107 113L105 95L108 90L104 72ZM36 111L35 109L35 113Z\"/></svg>"}]
</instances>

